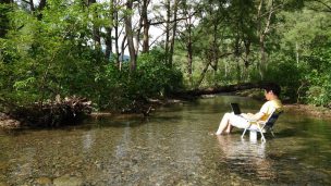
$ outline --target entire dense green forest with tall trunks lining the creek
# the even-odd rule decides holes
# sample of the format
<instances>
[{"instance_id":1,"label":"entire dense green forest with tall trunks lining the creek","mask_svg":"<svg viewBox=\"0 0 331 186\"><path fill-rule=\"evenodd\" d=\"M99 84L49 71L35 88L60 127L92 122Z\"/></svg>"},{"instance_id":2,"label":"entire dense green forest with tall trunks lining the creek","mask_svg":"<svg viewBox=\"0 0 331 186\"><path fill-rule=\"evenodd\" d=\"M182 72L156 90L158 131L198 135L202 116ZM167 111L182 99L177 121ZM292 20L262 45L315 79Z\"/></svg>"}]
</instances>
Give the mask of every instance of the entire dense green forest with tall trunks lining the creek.
<instances>
[{"instance_id":1,"label":"entire dense green forest with tall trunks lining the creek","mask_svg":"<svg viewBox=\"0 0 331 186\"><path fill-rule=\"evenodd\" d=\"M257 82L331 107L330 0L0 0L0 25L2 112Z\"/></svg>"}]
</instances>

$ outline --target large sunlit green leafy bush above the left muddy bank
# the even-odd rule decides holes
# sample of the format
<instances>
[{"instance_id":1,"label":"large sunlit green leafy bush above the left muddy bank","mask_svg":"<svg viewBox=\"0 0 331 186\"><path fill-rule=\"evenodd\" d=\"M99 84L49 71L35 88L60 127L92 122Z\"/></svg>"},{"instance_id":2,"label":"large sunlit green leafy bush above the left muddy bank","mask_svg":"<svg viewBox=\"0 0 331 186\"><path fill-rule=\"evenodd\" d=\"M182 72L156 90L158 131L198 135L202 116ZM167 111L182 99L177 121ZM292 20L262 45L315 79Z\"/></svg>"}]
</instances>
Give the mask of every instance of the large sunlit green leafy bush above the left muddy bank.
<instances>
[{"instance_id":1,"label":"large sunlit green leafy bush above the left muddy bank","mask_svg":"<svg viewBox=\"0 0 331 186\"><path fill-rule=\"evenodd\" d=\"M84 23L63 20L71 10L60 9L52 10L50 1L42 22L21 10L12 12L11 26L24 25L0 44L1 95L12 104L42 102L56 95L94 96L90 85L102 55L86 45L87 38L75 36L84 33Z\"/></svg>"}]
</instances>

